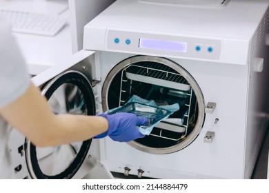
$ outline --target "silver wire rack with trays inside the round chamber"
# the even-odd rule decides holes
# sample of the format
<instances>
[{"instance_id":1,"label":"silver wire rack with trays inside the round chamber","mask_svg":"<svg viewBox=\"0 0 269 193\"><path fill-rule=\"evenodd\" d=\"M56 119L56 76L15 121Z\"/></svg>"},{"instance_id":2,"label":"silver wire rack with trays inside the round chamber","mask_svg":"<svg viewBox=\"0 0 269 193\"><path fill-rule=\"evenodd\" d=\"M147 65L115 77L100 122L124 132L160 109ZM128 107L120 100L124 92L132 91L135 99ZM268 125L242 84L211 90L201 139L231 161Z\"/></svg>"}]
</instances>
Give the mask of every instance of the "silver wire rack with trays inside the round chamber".
<instances>
[{"instance_id":1,"label":"silver wire rack with trays inside the round chamber","mask_svg":"<svg viewBox=\"0 0 269 193\"><path fill-rule=\"evenodd\" d=\"M161 68L158 68L161 67ZM128 65L125 69L121 72L121 85L120 85L120 93L119 93L119 106L124 105L128 99L123 97L123 94L129 94L131 95L132 90L132 81L139 81L144 83L151 83L154 85L160 85L167 88L177 89L181 90L182 92L186 92L186 95L190 97L188 100L188 103L185 103L185 105L188 107L188 110L186 110L186 113L183 114L183 117L179 117L182 120L187 119L186 121L183 121L182 125L172 125L173 130L166 129L163 126L158 127L159 128L159 134L150 134L152 136L156 136L162 139L167 139L171 141L182 141L186 138L186 135L188 133L188 127L189 127L189 121L190 121L190 107L192 103L192 88L188 84L188 81L184 79L181 74L178 72L173 72L171 68L165 66L165 65L155 65L154 68L152 67L145 67L140 65ZM128 89L125 89L128 88ZM169 123L166 123L166 125ZM168 136L165 136L163 134L163 130L168 130L171 132L178 132L179 135L177 138L171 138Z\"/></svg>"}]
</instances>

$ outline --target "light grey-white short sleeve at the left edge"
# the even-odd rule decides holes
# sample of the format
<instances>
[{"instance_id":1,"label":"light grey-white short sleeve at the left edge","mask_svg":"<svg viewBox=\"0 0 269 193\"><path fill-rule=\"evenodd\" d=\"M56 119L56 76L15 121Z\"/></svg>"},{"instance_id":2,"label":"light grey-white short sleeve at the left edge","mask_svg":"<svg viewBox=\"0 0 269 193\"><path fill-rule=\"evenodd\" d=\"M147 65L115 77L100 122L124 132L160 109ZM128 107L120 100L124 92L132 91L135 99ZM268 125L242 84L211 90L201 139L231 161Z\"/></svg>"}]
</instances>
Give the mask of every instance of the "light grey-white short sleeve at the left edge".
<instances>
[{"instance_id":1,"label":"light grey-white short sleeve at the left edge","mask_svg":"<svg viewBox=\"0 0 269 193\"><path fill-rule=\"evenodd\" d=\"M9 26L0 19L0 108L19 98L30 85L30 75Z\"/></svg>"}]
</instances>

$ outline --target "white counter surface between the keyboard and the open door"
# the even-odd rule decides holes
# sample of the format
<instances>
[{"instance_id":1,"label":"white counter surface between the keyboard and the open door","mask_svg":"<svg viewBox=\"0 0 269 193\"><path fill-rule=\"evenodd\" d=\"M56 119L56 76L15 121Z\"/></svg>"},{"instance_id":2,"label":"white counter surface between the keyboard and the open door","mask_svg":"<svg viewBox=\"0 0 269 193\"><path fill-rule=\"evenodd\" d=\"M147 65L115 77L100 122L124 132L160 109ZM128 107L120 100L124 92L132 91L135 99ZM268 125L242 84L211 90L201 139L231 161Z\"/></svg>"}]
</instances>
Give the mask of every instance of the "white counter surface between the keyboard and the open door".
<instances>
[{"instance_id":1,"label":"white counter surface between the keyboard and the open door","mask_svg":"<svg viewBox=\"0 0 269 193\"><path fill-rule=\"evenodd\" d=\"M32 75L37 75L72 55L69 25L55 37L19 33L14 33L14 36Z\"/></svg>"}]
</instances>

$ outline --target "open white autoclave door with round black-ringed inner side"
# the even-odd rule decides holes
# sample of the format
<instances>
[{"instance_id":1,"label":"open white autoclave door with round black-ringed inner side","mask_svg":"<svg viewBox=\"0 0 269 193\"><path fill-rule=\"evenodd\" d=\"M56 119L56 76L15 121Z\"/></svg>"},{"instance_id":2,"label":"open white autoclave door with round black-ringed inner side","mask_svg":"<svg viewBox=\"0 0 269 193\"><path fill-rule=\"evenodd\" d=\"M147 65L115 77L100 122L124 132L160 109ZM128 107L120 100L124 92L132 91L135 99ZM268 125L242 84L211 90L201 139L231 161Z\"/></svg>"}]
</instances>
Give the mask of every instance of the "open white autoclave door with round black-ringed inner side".
<instances>
[{"instance_id":1,"label":"open white autoclave door with round black-ringed inner side","mask_svg":"<svg viewBox=\"0 0 269 193\"><path fill-rule=\"evenodd\" d=\"M55 114L96 114L91 77L86 75L88 73L73 70L76 69L74 66L79 65L77 63L93 55L94 52L90 51L78 52L62 64L32 78L33 83L41 88L41 94L46 96ZM112 175L99 161L99 146L93 145L90 148L92 141L88 139L56 147L38 148L13 130L9 145L12 159L17 163L14 165L14 172L19 179L82 179L86 176L111 179ZM98 140L94 141L99 143ZM98 175L94 172L96 167L99 168ZM103 170L100 170L101 167Z\"/></svg>"}]
</instances>

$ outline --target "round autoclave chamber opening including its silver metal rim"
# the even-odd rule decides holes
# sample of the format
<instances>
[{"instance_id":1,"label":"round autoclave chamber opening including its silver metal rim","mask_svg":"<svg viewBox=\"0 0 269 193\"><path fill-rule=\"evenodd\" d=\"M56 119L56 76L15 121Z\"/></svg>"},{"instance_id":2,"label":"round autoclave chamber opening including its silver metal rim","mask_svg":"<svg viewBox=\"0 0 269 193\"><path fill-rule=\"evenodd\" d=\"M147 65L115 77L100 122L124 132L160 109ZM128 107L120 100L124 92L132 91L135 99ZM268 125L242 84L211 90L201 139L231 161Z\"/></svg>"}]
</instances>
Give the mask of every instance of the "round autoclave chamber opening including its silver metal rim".
<instances>
[{"instance_id":1,"label":"round autoclave chamber opening including its silver metal rim","mask_svg":"<svg viewBox=\"0 0 269 193\"><path fill-rule=\"evenodd\" d=\"M103 84L103 110L124 105L137 95L157 105L179 103L179 110L161 121L150 135L128 143L152 154L168 154L195 141L205 119L203 94L181 65L161 57L135 56L114 66Z\"/></svg>"}]
</instances>

